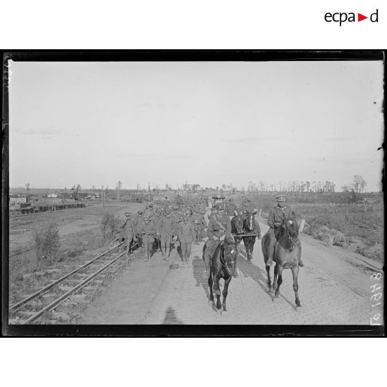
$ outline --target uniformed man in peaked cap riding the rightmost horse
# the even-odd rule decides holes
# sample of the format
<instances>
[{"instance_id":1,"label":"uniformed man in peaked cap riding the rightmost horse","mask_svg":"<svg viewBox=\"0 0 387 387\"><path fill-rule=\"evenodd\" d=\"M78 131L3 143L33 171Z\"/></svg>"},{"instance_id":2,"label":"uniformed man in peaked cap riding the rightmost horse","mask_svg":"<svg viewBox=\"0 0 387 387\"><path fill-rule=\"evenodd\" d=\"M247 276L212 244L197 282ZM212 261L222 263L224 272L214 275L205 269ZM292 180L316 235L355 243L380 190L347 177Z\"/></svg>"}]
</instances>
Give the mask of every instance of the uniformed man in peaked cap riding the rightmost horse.
<instances>
[{"instance_id":1,"label":"uniformed man in peaked cap riding the rightmost horse","mask_svg":"<svg viewBox=\"0 0 387 387\"><path fill-rule=\"evenodd\" d=\"M291 216L295 216L293 209L289 205L285 204L285 195L278 195L275 197L277 199L277 205L275 205L272 209L270 209L268 213L268 225L270 228L266 234L268 235L268 239L270 243L268 244L268 261L266 262L266 266L273 266L273 255L274 255L274 245L277 241L277 232L280 227L284 226L284 222L287 218ZM299 266L304 266L304 263L301 260L299 261Z\"/></svg>"}]
</instances>

